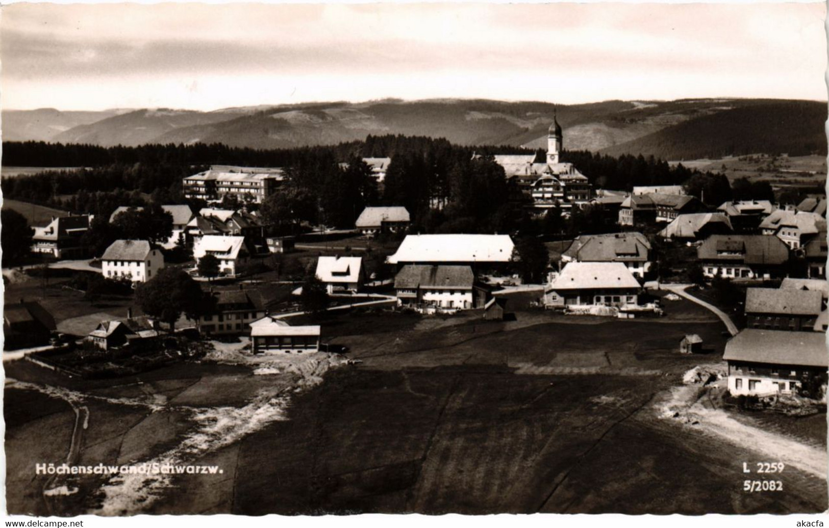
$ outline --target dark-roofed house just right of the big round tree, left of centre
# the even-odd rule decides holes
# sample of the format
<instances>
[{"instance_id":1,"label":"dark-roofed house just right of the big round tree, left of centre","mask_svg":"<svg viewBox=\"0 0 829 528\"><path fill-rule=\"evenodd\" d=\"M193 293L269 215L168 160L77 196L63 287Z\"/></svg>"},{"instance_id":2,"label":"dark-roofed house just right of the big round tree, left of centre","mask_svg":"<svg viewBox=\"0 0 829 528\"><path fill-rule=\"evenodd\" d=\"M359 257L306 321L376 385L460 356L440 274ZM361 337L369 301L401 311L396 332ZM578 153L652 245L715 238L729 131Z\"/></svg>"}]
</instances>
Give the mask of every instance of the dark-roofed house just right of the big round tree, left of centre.
<instances>
[{"instance_id":1,"label":"dark-roofed house just right of the big round tree, left of centre","mask_svg":"<svg viewBox=\"0 0 829 528\"><path fill-rule=\"evenodd\" d=\"M201 334L247 334L250 324L265 316L264 300L257 290L225 290L214 296L215 308L198 319Z\"/></svg>"}]
</instances>

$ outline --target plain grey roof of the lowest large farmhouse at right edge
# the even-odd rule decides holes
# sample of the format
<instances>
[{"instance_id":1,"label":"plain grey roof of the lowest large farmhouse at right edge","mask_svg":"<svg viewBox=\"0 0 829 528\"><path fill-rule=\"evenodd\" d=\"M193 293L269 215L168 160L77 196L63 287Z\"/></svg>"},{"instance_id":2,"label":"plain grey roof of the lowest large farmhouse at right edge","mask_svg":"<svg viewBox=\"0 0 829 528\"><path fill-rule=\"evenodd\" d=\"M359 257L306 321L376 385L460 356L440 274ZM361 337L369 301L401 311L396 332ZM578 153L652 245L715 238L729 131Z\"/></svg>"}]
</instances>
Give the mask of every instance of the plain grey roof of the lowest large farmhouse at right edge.
<instances>
[{"instance_id":1,"label":"plain grey roof of the lowest large farmhouse at right edge","mask_svg":"<svg viewBox=\"0 0 829 528\"><path fill-rule=\"evenodd\" d=\"M744 329L725 344L726 361L827 367L827 334Z\"/></svg>"}]
</instances>

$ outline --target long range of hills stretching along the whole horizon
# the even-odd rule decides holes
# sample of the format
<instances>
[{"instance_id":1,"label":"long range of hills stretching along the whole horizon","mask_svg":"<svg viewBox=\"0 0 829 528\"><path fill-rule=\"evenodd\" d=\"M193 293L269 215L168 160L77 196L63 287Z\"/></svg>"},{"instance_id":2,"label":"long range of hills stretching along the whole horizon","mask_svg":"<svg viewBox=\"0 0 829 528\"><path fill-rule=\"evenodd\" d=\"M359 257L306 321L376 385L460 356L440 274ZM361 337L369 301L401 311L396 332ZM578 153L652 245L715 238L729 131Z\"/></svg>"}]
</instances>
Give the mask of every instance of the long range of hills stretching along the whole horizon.
<instances>
[{"instance_id":1,"label":"long range of hills stretching along the whole horizon","mask_svg":"<svg viewBox=\"0 0 829 528\"><path fill-rule=\"evenodd\" d=\"M362 141L368 136L445 138L458 146L545 148L553 116L575 151L691 159L744 153L826 152L825 103L769 99L605 101L573 105L486 99L307 103L214 112L136 109L82 116L3 111L3 137L15 140L141 146L221 143L290 149ZM73 120L82 123L71 126ZM54 122L51 122L54 120ZM35 123L36 126L28 126Z\"/></svg>"}]
</instances>

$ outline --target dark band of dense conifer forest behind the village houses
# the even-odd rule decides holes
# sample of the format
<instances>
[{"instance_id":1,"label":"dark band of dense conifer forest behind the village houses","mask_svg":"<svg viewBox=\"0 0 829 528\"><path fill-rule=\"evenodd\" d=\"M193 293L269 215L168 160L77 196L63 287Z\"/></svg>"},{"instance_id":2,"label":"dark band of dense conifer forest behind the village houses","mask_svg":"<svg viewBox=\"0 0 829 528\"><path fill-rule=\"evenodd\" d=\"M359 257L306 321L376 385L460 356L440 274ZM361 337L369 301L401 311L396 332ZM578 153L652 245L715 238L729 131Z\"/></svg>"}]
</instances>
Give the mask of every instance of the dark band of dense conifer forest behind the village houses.
<instances>
[{"instance_id":1,"label":"dark band of dense conifer forest behind the village houses","mask_svg":"<svg viewBox=\"0 0 829 528\"><path fill-rule=\"evenodd\" d=\"M530 218L526 197L490 156L532 153L514 146L457 146L445 139L388 135L335 146L276 150L200 144L106 148L44 142L7 142L3 148L7 166L80 167L3 178L7 198L107 218L119 205L203 207L200 200L184 198L182 178L211 165L283 167L284 184L261 209L286 228L297 223L351 227L366 205L377 204L405 205L414 228L424 233L578 232L587 228L584 223L592 225L601 216L586 211L566 221L558 212L546 220ZM390 165L384 185L378 186L361 158L386 156ZM733 196L723 175L671 167L652 156L565 151L562 161L572 162L597 189L686 185L710 205ZM739 192L740 197L754 194L765 198L768 189L743 185ZM226 205L239 204L230 200Z\"/></svg>"}]
</instances>

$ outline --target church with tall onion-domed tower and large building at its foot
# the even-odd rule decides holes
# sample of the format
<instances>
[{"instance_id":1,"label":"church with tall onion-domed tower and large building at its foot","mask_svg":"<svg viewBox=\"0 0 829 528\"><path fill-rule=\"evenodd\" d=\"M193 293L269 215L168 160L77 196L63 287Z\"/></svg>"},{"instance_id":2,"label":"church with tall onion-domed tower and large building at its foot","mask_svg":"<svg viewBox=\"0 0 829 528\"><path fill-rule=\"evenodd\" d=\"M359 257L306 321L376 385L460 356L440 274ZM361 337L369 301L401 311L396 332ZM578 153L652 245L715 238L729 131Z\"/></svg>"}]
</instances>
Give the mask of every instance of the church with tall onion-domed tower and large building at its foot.
<instances>
[{"instance_id":1,"label":"church with tall onion-domed tower and large building at its foot","mask_svg":"<svg viewBox=\"0 0 829 528\"><path fill-rule=\"evenodd\" d=\"M547 154L540 153L493 156L504 168L508 179L515 179L521 191L532 197L533 209L559 207L563 213L573 205L587 204L591 185L572 163L560 161L563 134L558 119L547 132Z\"/></svg>"}]
</instances>

